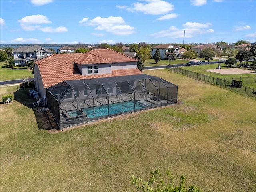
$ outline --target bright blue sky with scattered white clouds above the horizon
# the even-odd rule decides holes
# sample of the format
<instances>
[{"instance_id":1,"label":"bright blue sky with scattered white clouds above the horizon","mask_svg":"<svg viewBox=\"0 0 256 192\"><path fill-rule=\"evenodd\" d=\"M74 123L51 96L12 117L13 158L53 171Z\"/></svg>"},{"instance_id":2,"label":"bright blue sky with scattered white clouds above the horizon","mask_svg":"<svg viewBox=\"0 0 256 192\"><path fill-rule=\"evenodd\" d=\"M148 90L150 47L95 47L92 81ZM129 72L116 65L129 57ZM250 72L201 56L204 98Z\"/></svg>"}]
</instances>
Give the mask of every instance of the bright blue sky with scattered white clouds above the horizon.
<instances>
[{"instance_id":1,"label":"bright blue sky with scattered white clouds above the horizon","mask_svg":"<svg viewBox=\"0 0 256 192\"><path fill-rule=\"evenodd\" d=\"M1 0L0 44L256 42L256 0Z\"/></svg>"}]
</instances>

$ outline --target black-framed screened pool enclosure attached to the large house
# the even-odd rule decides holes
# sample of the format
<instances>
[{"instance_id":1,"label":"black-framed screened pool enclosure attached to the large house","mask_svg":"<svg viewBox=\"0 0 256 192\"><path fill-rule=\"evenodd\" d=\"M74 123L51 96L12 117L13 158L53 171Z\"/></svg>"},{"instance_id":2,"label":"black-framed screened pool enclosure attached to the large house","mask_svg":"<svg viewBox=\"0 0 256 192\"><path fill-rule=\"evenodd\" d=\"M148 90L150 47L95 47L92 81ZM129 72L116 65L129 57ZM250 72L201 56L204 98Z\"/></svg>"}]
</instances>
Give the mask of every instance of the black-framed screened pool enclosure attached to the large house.
<instances>
[{"instance_id":1,"label":"black-framed screened pool enclosure attached to the large house","mask_svg":"<svg viewBox=\"0 0 256 192\"><path fill-rule=\"evenodd\" d=\"M177 103L178 86L146 74L68 80L46 89L59 128Z\"/></svg>"}]
</instances>

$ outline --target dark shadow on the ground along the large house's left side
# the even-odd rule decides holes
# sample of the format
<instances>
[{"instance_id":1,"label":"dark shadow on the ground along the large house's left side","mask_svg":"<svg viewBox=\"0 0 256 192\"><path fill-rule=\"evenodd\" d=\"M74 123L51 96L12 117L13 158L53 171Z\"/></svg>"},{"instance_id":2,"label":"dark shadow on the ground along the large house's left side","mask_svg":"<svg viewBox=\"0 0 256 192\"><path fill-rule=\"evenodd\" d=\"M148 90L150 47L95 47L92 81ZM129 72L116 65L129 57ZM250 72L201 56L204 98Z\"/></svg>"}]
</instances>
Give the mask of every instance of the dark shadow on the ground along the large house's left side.
<instances>
[{"instance_id":1,"label":"dark shadow on the ground along the large house's left side","mask_svg":"<svg viewBox=\"0 0 256 192\"><path fill-rule=\"evenodd\" d=\"M14 100L32 108L36 117L36 122L38 124L38 129L45 130L58 130L58 126L55 123L55 120L50 112L50 110L45 110L42 107L34 107L33 103L36 102L36 99L30 96L29 90L33 88L17 88L13 93Z\"/></svg>"}]
</instances>

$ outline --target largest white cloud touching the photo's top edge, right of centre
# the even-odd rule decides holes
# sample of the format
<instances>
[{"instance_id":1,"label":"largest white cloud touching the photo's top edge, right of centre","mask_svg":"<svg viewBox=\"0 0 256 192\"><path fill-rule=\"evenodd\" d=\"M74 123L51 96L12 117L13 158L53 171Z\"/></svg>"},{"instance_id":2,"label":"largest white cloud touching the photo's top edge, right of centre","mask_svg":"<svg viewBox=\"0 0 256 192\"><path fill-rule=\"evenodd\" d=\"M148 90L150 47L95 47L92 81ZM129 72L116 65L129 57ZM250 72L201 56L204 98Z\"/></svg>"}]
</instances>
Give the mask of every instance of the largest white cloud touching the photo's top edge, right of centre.
<instances>
[{"instance_id":1,"label":"largest white cloud touching the photo's top edge, right of centre","mask_svg":"<svg viewBox=\"0 0 256 192\"><path fill-rule=\"evenodd\" d=\"M144 14L161 15L174 10L174 6L162 0L148 1L148 3L136 2L132 4L133 7L116 6L117 8L124 9L130 12L142 12Z\"/></svg>"}]
</instances>

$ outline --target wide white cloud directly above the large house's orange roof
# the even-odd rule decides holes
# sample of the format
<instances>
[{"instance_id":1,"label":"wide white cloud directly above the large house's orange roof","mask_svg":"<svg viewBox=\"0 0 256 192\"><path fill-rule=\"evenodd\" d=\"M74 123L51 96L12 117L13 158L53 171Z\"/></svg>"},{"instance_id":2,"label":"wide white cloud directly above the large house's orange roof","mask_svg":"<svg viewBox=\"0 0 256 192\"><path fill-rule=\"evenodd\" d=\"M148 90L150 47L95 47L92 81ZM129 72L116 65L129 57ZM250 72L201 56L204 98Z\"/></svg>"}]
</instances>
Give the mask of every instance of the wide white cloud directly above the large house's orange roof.
<instances>
[{"instance_id":1,"label":"wide white cloud directly above the large house's orange roof","mask_svg":"<svg viewBox=\"0 0 256 192\"><path fill-rule=\"evenodd\" d=\"M130 35L135 33L135 28L126 25L122 17L108 18L96 17L83 23L84 26L94 26L95 30L105 30L116 35Z\"/></svg>"}]
</instances>

